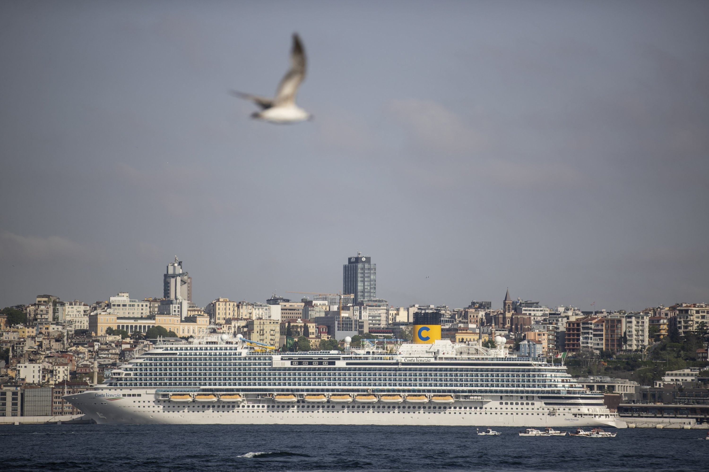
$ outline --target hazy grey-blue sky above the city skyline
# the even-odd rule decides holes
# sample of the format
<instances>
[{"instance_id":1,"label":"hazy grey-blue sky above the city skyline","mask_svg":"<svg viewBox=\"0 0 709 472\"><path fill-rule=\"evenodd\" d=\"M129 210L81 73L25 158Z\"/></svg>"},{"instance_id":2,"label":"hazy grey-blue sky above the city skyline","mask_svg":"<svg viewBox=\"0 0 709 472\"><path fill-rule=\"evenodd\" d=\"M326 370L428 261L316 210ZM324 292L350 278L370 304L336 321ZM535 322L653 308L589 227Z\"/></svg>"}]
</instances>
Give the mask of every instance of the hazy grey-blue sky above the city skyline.
<instances>
[{"instance_id":1,"label":"hazy grey-blue sky above the city skyline","mask_svg":"<svg viewBox=\"0 0 709 472\"><path fill-rule=\"evenodd\" d=\"M709 301L706 1L4 1L0 64L0 306Z\"/></svg>"}]
</instances>

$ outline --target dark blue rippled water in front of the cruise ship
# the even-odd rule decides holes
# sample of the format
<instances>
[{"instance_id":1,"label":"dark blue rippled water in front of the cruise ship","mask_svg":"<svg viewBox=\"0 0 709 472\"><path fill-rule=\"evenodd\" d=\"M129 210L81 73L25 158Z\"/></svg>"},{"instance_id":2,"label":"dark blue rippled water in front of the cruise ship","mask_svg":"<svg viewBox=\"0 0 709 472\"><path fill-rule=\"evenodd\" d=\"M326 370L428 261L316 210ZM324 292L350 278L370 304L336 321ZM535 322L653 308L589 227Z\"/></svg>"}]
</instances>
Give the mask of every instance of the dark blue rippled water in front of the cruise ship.
<instances>
[{"instance_id":1,"label":"dark blue rippled water in front of the cruise ship","mask_svg":"<svg viewBox=\"0 0 709 472\"><path fill-rule=\"evenodd\" d=\"M469 427L0 426L2 471L706 471L703 430L613 439Z\"/></svg>"}]
</instances>

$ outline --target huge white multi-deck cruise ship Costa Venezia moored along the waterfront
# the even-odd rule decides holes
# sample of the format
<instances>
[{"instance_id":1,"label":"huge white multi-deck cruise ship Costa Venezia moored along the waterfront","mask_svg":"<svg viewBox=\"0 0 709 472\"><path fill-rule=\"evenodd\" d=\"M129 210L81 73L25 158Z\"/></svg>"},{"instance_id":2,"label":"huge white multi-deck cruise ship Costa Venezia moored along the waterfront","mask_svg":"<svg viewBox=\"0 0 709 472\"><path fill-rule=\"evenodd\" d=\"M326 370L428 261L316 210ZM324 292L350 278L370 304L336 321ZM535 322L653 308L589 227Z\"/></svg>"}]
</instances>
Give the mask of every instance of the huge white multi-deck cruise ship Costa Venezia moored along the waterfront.
<instances>
[{"instance_id":1,"label":"huge white multi-deck cruise ship Costa Venezia moored along the waterfront","mask_svg":"<svg viewBox=\"0 0 709 472\"><path fill-rule=\"evenodd\" d=\"M425 330L418 335L428 344L396 352L279 353L219 334L158 342L94 390L65 399L113 425L626 427L564 366L510 355L502 337L487 349Z\"/></svg>"}]
</instances>

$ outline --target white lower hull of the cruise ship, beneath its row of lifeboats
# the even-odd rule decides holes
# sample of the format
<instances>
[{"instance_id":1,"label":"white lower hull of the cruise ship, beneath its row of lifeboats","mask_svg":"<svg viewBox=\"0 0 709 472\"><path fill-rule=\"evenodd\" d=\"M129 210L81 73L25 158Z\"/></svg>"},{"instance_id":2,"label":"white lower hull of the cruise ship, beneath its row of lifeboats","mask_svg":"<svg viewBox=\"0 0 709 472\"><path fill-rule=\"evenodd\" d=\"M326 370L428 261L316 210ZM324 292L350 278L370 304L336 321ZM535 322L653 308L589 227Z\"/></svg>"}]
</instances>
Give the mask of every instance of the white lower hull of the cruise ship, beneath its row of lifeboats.
<instances>
[{"instance_id":1,"label":"white lower hull of the cruise ship, beneath its row of lifeboats","mask_svg":"<svg viewBox=\"0 0 709 472\"><path fill-rule=\"evenodd\" d=\"M130 390L135 395L136 390ZM126 392L127 393L127 392ZM129 394L129 395L130 395ZM542 409L473 410L470 402L451 405L342 405L298 403L283 405L270 399L210 404L159 400L155 390L140 398L111 390L67 395L67 400L99 424L106 425L420 425L475 427L627 427L615 415L575 417L571 412L549 414ZM482 404L482 403L481 403ZM359 406L359 408L357 408ZM440 408L439 408L440 407Z\"/></svg>"}]
</instances>

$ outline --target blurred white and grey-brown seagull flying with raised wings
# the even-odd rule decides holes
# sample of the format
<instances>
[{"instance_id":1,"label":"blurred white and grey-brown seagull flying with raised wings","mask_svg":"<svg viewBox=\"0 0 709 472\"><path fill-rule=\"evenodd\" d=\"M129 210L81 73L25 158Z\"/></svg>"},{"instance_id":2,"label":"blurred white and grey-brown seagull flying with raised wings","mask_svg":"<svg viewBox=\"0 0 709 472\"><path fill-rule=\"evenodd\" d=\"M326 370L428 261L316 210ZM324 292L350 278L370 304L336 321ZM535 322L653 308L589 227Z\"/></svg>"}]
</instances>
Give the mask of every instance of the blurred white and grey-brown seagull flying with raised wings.
<instances>
[{"instance_id":1,"label":"blurred white and grey-brown seagull flying with raised wings","mask_svg":"<svg viewBox=\"0 0 709 472\"><path fill-rule=\"evenodd\" d=\"M291 68L281 79L276 91L276 98L268 99L262 96L243 94L240 91L231 91L231 94L241 99L247 99L261 107L251 118L269 121L271 123L297 123L298 121L311 120L313 116L296 105L296 93L303 79L306 77L306 52L303 49L298 33L293 33L293 47L291 47Z\"/></svg>"}]
</instances>

